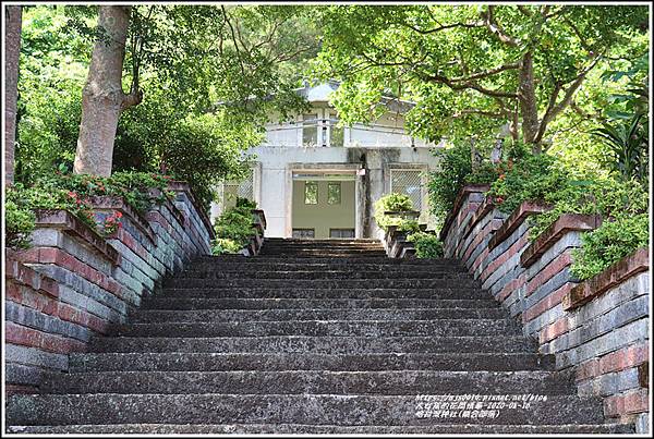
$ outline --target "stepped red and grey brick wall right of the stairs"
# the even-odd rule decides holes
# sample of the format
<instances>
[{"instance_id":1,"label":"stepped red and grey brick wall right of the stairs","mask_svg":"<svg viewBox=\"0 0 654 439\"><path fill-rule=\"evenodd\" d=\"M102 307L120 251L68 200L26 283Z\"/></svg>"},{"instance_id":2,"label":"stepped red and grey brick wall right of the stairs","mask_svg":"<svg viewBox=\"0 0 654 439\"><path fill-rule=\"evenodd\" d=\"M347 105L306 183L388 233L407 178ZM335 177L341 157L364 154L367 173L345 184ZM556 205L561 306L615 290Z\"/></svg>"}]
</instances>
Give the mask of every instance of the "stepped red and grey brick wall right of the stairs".
<instances>
[{"instance_id":1,"label":"stepped red and grey brick wall right of the stairs","mask_svg":"<svg viewBox=\"0 0 654 439\"><path fill-rule=\"evenodd\" d=\"M579 283L569 272L583 232L602 219L562 215L535 241L530 215L547 206L523 203L500 212L484 192L465 186L440 237L445 256L462 260L484 289L517 319L556 368L573 370L578 391L604 398L604 412L618 422L649 422L649 249L639 249L605 272Z\"/></svg>"}]
</instances>

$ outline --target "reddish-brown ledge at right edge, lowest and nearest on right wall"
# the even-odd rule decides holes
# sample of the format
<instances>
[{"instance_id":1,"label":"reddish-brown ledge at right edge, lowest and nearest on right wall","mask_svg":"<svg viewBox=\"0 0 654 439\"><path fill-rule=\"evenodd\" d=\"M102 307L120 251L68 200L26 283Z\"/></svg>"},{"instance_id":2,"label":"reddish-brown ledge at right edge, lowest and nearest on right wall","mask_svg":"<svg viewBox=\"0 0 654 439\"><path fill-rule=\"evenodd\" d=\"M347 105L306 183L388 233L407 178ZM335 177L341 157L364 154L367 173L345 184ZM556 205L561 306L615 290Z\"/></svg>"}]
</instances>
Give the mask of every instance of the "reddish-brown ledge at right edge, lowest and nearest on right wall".
<instances>
[{"instance_id":1,"label":"reddish-brown ledge at right edge, lowest and nearest on right wall","mask_svg":"<svg viewBox=\"0 0 654 439\"><path fill-rule=\"evenodd\" d=\"M625 280L650 269L647 248L639 248L595 277L576 285L562 300L565 310L574 309L602 295Z\"/></svg>"}]
</instances>

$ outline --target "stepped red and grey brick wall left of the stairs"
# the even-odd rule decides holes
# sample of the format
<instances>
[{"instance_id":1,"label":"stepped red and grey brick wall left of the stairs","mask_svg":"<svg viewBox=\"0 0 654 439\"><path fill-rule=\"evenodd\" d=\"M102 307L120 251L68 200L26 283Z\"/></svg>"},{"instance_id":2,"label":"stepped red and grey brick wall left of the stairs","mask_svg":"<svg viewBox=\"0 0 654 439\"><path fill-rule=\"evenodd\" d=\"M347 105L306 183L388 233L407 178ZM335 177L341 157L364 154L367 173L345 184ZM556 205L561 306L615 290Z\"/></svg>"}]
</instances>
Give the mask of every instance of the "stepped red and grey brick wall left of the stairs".
<instances>
[{"instance_id":1,"label":"stepped red and grey brick wall left of the stairs","mask_svg":"<svg viewBox=\"0 0 654 439\"><path fill-rule=\"evenodd\" d=\"M40 211L32 247L5 252L5 382L34 391L45 373L68 370L69 354L124 324L130 310L198 255L213 229L190 187L144 216L121 198L93 200L98 220L116 211L121 227L102 237L64 210Z\"/></svg>"}]
</instances>

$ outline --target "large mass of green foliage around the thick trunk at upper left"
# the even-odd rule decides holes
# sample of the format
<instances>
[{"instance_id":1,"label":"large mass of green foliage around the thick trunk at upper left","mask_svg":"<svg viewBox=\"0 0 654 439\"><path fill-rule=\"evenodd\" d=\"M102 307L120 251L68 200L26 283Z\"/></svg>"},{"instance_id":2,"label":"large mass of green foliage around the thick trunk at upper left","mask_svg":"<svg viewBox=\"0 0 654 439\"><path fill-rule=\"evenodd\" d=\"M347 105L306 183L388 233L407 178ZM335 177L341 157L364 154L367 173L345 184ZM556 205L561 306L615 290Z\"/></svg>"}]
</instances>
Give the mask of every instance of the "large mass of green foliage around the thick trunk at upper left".
<instances>
[{"instance_id":1,"label":"large mass of green foliage around the thick trunk at upper left","mask_svg":"<svg viewBox=\"0 0 654 439\"><path fill-rule=\"evenodd\" d=\"M38 5L23 17L16 181L32 185L72 169L100 35L97 7ZM295 69L315 54L316 33L305 7L134 5L124 86L137 75L144 100L121 114L113 171L174 174L208 209L213 187L244 172L268 114L305 108Z\"/></svg>"}]
</instances>

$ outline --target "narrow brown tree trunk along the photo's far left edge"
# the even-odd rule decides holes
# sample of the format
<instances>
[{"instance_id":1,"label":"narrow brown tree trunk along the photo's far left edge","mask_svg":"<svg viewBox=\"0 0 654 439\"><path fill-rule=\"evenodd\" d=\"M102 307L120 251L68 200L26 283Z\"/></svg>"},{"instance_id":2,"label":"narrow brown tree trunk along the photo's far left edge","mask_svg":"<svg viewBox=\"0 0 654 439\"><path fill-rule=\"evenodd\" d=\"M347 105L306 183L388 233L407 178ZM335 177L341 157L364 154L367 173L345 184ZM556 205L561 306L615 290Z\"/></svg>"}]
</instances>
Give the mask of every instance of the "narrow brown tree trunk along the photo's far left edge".
<instances>
[{"instance_id":1,"label":"narrow brown tree trunk along the photo's far left edge","mask_svg":"<svg viewBox=\"0 0 654 439\"><path fill-rule=\"evenodd\" d=\"M21 54L22 7L4 7L4 176L14 181L14 144L16 141L16 101L19 97L19 59Z\"/></svg>"}]
</instances>

